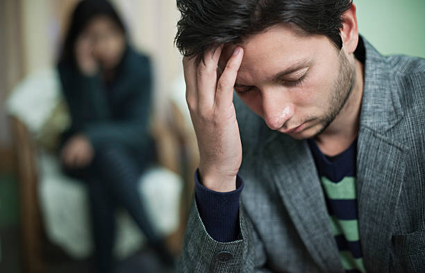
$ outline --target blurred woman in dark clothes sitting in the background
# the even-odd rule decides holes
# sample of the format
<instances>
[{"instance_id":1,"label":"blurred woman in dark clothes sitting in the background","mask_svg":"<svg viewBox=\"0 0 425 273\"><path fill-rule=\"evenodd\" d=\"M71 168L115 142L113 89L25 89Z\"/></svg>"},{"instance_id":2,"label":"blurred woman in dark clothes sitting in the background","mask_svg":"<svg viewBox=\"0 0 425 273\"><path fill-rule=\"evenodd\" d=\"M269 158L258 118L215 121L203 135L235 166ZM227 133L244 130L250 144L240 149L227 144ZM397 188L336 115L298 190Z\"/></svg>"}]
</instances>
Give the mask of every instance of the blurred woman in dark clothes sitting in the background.
<instances>
[{"instance_id":1,"label":"blurred woman in dark clothes sitting in the background","mask_svg":"<svg viewBox=\"0 0 425 273\"><path fill-rule=\"evenodd\" d=\"M60 158L67 174L88 184L99 272L113 272L117 206L169 262L138 191L140 174L155 154L147 130L151 67L128 45L124 24L108 1L78 3L58 71L72 117Z\"/></svg>"}]
</instances>

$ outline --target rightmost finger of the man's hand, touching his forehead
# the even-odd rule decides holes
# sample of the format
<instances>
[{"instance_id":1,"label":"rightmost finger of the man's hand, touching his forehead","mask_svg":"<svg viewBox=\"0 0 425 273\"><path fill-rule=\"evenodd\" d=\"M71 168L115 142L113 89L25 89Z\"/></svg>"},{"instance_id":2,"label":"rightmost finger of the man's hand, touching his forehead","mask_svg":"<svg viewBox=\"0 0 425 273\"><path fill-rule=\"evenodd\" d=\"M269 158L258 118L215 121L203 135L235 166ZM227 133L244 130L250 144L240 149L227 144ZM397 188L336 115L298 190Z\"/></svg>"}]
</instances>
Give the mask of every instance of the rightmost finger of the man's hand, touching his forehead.
<instances>
[{"instance_id":1,"label":"rightmost finger of the man's hand, touching his forehead","mask_svg":"<svg viewBox=\"0 0 425 273\"><path fill-rule=\"evenodd\" d=\"M243 55L244 50L242 47L235 47L233 55L228 59L222 76L217 82L215 104L217 104L218 108L226 108L233 104L233 87L235 86Z\"/></svg>"}]
</instances>

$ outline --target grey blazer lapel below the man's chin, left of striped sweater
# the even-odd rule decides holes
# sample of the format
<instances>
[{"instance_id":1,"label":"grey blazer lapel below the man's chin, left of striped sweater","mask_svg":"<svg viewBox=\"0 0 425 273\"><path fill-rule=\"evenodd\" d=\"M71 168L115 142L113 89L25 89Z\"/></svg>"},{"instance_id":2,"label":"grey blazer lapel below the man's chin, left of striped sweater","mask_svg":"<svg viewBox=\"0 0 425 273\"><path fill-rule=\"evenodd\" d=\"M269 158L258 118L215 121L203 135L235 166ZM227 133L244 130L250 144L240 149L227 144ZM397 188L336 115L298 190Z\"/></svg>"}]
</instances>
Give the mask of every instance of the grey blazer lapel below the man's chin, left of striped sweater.
<instances>
[{"instance_id":1,"label":"grey blazer lapel below the man's chin, left of striped sweater","mask_svg":"<svg viewBox=\"0 0 425 273\"><path fill-rule=\"evenodd\" d=\"M267 173L318 267L322 272L344 272L308 144L278 134L267 142L265 153Z\"/></svg>"}]
</instances>

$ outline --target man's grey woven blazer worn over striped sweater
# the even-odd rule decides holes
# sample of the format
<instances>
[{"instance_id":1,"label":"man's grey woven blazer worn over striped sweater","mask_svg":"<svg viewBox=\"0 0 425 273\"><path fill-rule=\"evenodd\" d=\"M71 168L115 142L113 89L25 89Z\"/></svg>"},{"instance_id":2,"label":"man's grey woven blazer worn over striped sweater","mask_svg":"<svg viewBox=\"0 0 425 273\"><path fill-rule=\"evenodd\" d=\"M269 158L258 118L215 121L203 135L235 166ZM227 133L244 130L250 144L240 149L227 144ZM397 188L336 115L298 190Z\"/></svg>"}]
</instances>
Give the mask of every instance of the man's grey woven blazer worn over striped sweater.
<instances>
[{"instance_id":1,"label":"man's grey woven blazer worn over striped sweater","mask_svg":"<svg viewBox=\"0 0 425 273\"><path fill-rule=\"evenodd\" d=\"M365 41L365 40L364 40ZM357 155L368 273L425 272L425 60L365 41ZM243 147L240 240L208 235L193 203L178 272L344 272L306 141L271 131L235 99Z\"/></svg>"}]
</instances>

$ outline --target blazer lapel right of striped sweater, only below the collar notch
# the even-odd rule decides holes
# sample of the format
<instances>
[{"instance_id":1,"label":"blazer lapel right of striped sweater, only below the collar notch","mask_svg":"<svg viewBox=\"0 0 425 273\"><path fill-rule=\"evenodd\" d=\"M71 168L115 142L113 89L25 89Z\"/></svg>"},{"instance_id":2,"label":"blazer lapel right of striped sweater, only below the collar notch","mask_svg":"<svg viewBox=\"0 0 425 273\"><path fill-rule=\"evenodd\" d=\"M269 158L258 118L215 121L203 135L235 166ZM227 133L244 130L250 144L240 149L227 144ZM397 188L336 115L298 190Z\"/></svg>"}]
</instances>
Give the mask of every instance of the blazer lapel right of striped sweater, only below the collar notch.
<instances>
[{"instance_id":1,"label":"blazer lapel right of striped sweater, only below the collar notch","mask_svg":"<svg viewBox=\"0 0 425 273\"><path fill-rule=\"evenodd\" d=\"M358 221L367 272L388 270L394 211L406 167L404 149L372 130L360 130L357 156Z\"/></svg>"}]
</instances>

